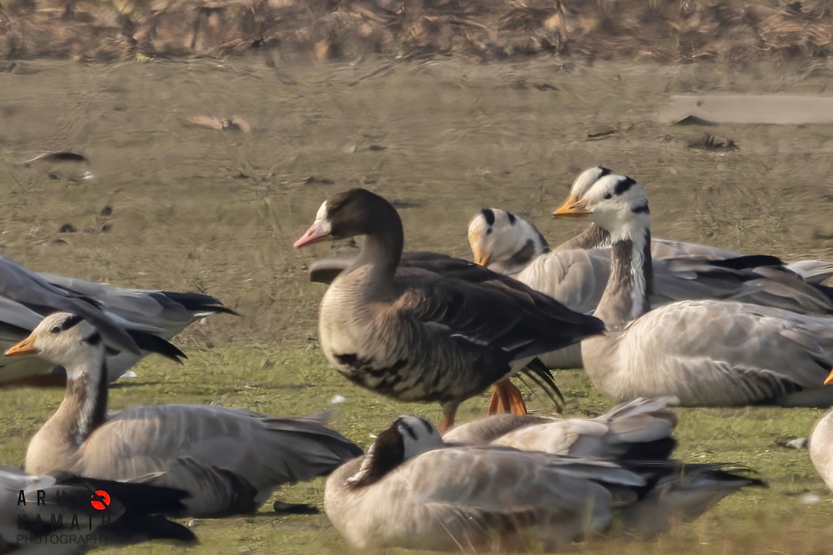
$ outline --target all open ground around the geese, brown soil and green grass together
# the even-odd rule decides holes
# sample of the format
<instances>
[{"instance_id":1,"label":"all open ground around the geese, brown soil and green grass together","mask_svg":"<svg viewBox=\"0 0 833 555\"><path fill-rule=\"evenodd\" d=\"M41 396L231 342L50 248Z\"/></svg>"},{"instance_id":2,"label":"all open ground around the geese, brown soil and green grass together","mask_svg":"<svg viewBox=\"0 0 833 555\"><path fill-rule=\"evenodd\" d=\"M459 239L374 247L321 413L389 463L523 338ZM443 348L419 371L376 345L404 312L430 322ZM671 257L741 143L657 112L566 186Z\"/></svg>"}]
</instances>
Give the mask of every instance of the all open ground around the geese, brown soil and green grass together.
<instances>
[{"instance_id":1,"label":"all open ground around the geese, brown soil and green grass together","mask_svg":"<svg viewBox=\"0 0 833 555\"><path fill-rule=\"evenodd\" d=\"M549 58L276 66L262 52L149 63L23 60L0 74L0 250L36 270L205 291L242 314L193 326L177 339L192 359L182 369L147 359L139 378L114 389L113 406L218 402L297 414L327 409L344 394L333 425L367 446L369 434L404 410L432 419L438 411L389 402L325 368L315 342L323 289L307 283L305 268L354 247L291 245L328 195L350 186L377 191L396 201L407 248L467 257L466 224L483 206L528 216L553 243L571 235L571 223L549 214L578 171L601 163L646 186L656 236L830 260L833 125L658 122L674 94L831 96L827 86L824 64L808 72L781 62L739 72ZM208 117L237 125L189 123ZM690 146L706 133L737 150ZM45 151L77 152L89 166L22 164ZM581 372L559 379L568 414L609 406ZM27 438L60 399L54 391L0 391L8 407L0 463L22 463ZM547 409L541 399L533 404ZM463 415L484 406L471 401ZM829 493L806 452L774 443L809 434L821 414L681 411L681 458L748 464L771 490L729 500L655 542L576 550L824 553L833 539ZM321 494L314 483L288 496L321 503ZM198 522L203 544L193 553L343 552L323 516L276 518L269 508Z\"/></svg>"}]
</instances>

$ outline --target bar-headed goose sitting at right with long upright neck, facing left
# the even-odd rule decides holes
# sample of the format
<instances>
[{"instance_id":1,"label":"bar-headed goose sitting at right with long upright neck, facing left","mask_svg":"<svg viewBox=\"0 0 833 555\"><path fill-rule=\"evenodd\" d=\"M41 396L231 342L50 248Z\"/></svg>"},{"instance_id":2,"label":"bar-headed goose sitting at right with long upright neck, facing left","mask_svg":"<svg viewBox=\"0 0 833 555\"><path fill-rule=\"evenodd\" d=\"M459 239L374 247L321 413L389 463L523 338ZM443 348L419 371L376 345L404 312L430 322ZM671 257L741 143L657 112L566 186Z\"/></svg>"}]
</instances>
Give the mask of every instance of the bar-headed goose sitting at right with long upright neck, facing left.
<instances>
[{"instance_id":1,"label":"bar-headed goose sitting at right with long upright neck, facing left","mask_svg":"<svg viewBox=\"0 0 833 555\"><path fill-rule=\"evenodd\" d=\"M607 174L556 216L584 216L611 236L611 277L596 316L607 333L581 344L584 367L616 400L675 395L681 404L830 406L833 320L724 300L649 310L651 215L630 177Z\"/></svg>"}]
</instances>

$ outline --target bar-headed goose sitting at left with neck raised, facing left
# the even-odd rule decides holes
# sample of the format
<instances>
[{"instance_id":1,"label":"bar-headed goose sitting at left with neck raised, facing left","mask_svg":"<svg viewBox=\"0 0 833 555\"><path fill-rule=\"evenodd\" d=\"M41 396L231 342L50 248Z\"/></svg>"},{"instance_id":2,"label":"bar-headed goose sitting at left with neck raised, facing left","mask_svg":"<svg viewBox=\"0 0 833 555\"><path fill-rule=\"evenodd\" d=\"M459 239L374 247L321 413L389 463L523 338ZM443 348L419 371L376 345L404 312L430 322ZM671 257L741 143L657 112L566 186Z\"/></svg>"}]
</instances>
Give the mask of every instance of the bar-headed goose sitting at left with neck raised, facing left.
<instances>
[{"instance_id":1,"label":"bar-headed goose sitting at left with neck raised, facing left","mask_svg":"<svg viewBox=\"0 0 833 555\"><path fill-rule=\"evenodd\" d=\"M37 354L67 369L67 393L26 453L29 473L60 470L128 479L164 473L193 516L255 510L282 483L330 472L362 453L322 417L272 418L208 404L130 407L107 414L102 337L81 316L47 316L7 356Z\"/></svg>"}]
</instances>

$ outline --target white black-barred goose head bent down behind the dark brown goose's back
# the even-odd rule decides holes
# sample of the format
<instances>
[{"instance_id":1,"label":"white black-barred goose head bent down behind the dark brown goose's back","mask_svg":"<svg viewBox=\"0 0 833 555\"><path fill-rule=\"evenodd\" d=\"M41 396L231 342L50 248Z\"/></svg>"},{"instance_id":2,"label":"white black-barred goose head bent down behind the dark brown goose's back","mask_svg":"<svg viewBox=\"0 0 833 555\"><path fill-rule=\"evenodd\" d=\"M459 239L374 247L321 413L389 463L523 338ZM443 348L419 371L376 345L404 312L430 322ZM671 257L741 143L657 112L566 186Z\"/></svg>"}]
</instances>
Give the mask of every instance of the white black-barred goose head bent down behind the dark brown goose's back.
<instances>
[{"instance_id":1,"label":"white black-barred goose head bent down behind the dark brown goose's back","mask_svg":"<svg viewBox=\"0 0 833 555\"><path fill-rule=\"evenodd\" d=\"M518 264L525 264L550 250L534 225L497 208L484 208L474 216L468 235L475 263L489 268L512 265L513 257L518 257Z\"/></svg>"}]
</instances>

